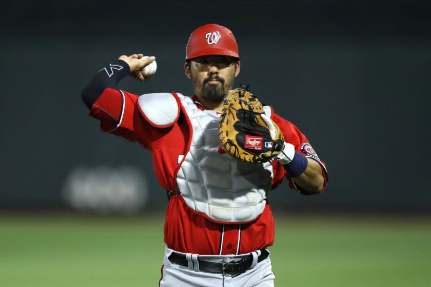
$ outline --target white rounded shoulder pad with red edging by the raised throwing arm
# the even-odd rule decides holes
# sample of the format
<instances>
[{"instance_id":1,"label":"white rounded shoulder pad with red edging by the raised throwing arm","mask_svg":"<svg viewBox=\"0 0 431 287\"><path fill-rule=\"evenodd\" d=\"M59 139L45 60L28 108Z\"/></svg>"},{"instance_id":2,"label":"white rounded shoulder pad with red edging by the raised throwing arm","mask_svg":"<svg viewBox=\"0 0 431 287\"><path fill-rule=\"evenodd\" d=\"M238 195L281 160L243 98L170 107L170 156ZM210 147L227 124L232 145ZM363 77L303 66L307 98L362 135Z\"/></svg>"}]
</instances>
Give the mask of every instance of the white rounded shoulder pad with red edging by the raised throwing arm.
<instances>
[{"instance_id":1,"label":"white rounded shoulder pad with red edging by the raised throwing arm","mask_svg":"<svg viewBox=\"0 0 431 287\"><path fill-rule=\"evenodd\" d=\"M166 128L177 121L180 107L177 98L171 93L143 94L138 98L141 114L158 128Z\"/></svg>"}]
</instances>

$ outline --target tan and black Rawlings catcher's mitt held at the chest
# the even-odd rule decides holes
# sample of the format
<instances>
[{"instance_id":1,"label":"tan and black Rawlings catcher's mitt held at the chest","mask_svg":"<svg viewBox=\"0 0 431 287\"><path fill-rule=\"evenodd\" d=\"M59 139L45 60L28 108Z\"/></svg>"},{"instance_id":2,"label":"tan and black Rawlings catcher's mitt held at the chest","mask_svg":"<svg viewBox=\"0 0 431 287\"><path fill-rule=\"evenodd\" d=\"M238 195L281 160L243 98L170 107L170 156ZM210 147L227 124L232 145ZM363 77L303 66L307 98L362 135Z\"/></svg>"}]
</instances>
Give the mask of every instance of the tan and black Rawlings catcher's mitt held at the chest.
<instances>
[{"instance_id":1,"label":"tan and black Rawlings catcher's mitt held at the chest","mask_svg":"<svg viewBox=\"0 0 431 287\"><path fill-rule=\"evenodd\" d=\"M258 97L241 88L225 95L219 138L231 156L257 163L275 158L284 146L283 134L265 115Z\"/></svg>"}]
</instances>

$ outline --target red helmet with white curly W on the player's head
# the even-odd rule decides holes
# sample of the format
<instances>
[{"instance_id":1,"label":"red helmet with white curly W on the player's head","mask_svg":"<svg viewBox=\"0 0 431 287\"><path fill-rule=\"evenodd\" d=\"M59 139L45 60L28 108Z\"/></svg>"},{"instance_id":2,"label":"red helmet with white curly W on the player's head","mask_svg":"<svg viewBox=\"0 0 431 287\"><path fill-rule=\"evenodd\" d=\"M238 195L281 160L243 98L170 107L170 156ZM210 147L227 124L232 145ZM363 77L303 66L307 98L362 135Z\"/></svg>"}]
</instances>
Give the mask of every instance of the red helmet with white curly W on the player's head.
<instances>
[{"instance_id":1,"label":"red helmet with white curly W on the player's head","mask_svg":"<svg viewBox=\"0 0 431 287\"><path fill-rule=\"evenodd\" d=\"M186 60L206 55L240 58L233 33L217 24L207 24L194 30L187 43Z\"/></svg>"}]
</instances>

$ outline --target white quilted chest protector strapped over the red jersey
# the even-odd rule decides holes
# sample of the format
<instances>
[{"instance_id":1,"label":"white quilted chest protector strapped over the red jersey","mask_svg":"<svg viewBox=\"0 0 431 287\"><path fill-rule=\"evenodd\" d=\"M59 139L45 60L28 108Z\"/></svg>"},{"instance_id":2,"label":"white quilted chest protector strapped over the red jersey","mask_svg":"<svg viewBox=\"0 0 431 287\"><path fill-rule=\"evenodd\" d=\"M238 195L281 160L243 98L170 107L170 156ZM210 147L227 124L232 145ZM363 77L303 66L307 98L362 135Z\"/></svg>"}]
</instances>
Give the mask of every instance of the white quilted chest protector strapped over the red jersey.
<instances>
[{"instance_id":1,"label":"white quilted chest protector strapped over the red jersey","mask_svg":"<svg viewBox=\"0 0 431 287\"><path fill-rule=\"evenodd\" d=\"M177 174L181 196L191 209L215 221L246 222L255 219L263 212L266 193L271 189L271 162L250 163L226 153L220 154L220 114L211 110L201 111L191 98L177 95L193 131L190 149ZM160 104L161 97L158 99ZM144 105L144 101L142 105L140 103L141 107ZM151 117L147 119L152 120Z\"/></svg>"}]
</instances>

